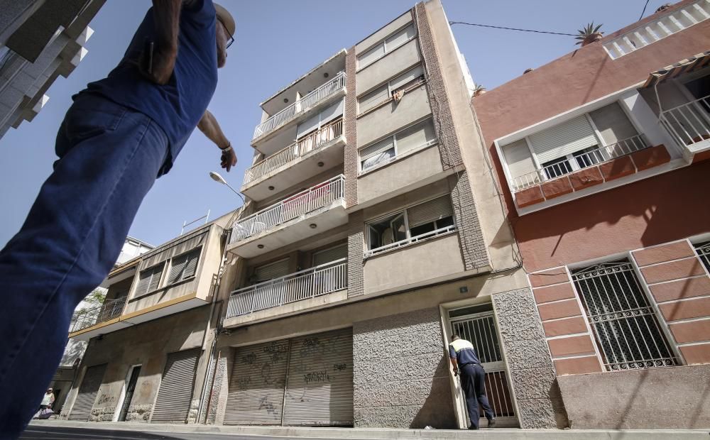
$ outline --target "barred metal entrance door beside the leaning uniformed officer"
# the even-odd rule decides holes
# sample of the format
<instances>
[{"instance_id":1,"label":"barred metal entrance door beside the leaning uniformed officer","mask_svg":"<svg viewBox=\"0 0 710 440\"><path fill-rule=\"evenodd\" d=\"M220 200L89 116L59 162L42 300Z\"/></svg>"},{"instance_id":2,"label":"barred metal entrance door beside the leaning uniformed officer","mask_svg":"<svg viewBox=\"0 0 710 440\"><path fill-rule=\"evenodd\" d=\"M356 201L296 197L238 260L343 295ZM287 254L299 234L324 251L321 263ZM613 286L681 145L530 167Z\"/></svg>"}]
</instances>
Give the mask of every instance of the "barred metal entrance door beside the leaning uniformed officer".
<instances>
[{"instance_id":1,"label":"barred metal entrance door beside the leaning uniformed officer","mask_svg":"<svg viewBox=\"0 0 710 440\"><path fill-rule=\"evenodd\" d=\"M454 334L471 341L479 356L481 366L486 370L486 396L488 396L488 403L491 404L496 421L501 426L515 425L517 419L515 419L513 398L510 396L506 364L503 362L503 352L501 344L498 342L498 329L493 312L452 318L451 326ZM482 409L480 414L481 420L485 420ZM486 424L480 426L486 426Z\"/></svg>"}]
</instances>

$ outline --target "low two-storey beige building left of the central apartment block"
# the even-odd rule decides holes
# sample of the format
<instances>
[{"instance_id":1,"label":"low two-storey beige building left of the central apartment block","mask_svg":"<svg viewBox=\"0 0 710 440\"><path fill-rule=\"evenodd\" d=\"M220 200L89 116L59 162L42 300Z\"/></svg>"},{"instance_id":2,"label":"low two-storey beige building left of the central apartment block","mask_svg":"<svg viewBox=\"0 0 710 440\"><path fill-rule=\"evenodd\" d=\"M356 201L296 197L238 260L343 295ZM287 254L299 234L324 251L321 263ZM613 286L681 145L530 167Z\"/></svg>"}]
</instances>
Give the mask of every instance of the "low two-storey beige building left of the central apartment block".
<instances>
[{"instance_id":1,"label":"low two-storey beige building left of the central apartment block","mask_svg":"<svg viewBox=\"0 0 710 440\"><path fill-rule=\"evenodd\" d=\"M77 316L87 349L60 417L90 422L195 422L204 393L231 212L118 265L104 303ZM124 251L145 243L127 239Z\"/></svg>"}]
</instances>

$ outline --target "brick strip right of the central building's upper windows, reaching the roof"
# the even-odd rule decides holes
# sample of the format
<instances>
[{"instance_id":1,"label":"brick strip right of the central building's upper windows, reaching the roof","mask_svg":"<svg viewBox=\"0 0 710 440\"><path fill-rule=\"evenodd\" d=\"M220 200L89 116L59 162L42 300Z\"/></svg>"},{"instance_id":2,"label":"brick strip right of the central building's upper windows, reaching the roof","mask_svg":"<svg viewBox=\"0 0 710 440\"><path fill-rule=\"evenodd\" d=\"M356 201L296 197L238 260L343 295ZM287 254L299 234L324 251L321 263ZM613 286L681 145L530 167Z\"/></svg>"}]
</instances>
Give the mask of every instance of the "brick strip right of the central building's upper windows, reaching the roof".
<instances>
[{"instance_id":1,"label":"brick strip right of the central building's upper windows, reaching the roof","mask_svg":"<svg viewBox=\"0 0 710 440\"><path fill-rule=\"evenodd\" d=\"M423 3L419 3L415 6L413 12L416 17L419 44L424 57L427 92L429 93L432 116L434 117L434 128L439 139L439 153L441 153L444 170L450 170L463 164L459 138L456 135L456 128L454 127L454 120L449 107L449 98L444 85L444 75L442 75L441 63L439 62L439 53L434 41L434 35L432 35L426 6Z\"/></svg>"}]
</instances>

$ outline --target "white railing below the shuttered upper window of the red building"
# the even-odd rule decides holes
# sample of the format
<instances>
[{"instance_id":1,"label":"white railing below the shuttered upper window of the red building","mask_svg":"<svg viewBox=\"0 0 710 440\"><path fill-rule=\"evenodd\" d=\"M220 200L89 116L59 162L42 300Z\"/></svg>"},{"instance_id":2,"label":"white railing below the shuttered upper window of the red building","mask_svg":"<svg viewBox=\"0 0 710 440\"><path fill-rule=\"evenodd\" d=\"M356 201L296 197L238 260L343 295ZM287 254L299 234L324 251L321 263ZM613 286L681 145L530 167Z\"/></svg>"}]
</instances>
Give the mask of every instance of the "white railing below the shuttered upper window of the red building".
<instances>
[{"instance_id":1,"label":"white railing below the shuttered upper window of the red building","mask_svg":"<svg viewBox=\"0 0 710 440\"><path fill-rule=\"evenodd\" d=\"M608 160L620 158L623 155L628 155L635 151L643 150L644 148L648 148L648 143L638 134L611 145L595 148L586 153L574 154L574 159L572 159L574 160L574 166L572 165L572 160L561 160L552 165L547 165L546 167L528 172L527 174L513 177L510 180L510 186L513 187L513 191L520 191L520 189L539 185L546 180L555 179L556 177L569 174L570 172L591 167L591 165L597 165Z\"/></svg>"}]
</instances>

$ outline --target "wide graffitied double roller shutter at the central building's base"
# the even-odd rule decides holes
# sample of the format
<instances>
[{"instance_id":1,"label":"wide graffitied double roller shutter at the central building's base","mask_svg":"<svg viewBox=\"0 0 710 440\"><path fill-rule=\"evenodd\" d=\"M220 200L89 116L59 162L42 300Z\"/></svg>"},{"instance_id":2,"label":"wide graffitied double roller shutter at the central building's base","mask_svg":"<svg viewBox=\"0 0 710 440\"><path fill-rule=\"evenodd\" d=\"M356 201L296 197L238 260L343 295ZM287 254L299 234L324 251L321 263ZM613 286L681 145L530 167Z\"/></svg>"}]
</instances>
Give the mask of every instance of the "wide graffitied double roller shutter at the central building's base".
<instances>
[{"instance_id":1,"label":"wide graffitied double roller shutter at the central building's base","mask_svg":"<svg viewBox=\"0 0 710 440\"><path fill-rule=\"evenodd\" d=\"M352 329L236 349L224 424L353 424Z\"/></svg>"}]
</instances>

